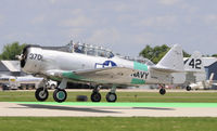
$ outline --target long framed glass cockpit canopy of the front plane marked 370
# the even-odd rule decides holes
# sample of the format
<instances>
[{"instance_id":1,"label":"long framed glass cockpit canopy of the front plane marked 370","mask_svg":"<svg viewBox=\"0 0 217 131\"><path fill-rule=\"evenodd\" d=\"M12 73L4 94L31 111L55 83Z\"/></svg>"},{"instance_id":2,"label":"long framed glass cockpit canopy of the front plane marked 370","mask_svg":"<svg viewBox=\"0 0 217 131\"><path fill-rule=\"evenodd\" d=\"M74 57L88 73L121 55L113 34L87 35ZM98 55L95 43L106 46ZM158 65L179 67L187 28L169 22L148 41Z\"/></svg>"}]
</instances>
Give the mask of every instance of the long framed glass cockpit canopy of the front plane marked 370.
<instances>
[{"instance_id":1,"label":"long framed glass cockpit canopy of the front plane marked 370","mask_svg":"<svg viewBox=\"0 0 217 131\"><path fill-rule=\"evenodd\" d=\"M111 50L103 49L102 47L94 47L86 43L73 43L71 47L72 52L87 54L91 56L114 57Z\"/></svg>"}]
</instances>

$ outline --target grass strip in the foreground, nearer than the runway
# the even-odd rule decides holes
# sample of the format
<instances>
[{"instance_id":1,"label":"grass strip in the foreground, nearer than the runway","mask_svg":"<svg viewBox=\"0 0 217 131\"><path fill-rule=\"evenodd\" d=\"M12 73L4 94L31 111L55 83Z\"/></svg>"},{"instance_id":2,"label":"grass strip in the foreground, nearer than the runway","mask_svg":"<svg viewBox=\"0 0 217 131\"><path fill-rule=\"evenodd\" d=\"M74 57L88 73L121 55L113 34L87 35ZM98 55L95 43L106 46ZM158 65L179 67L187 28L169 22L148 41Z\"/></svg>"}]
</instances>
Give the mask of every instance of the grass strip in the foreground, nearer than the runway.
<instances>
[{"instance_id":1,"label":"grass strip in the foreground, nearer than the runway","mask_svg":"<svg viewBox=\"0 0 217 131\"><path fill-rule=\"evenodd\" d=\"M216 131L216 128L217 118L0 118L0 131Z\"/></svg>"}]
</instances>

